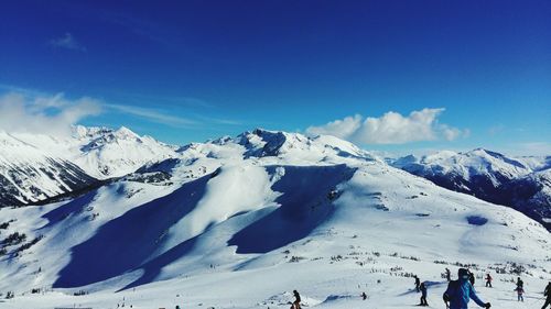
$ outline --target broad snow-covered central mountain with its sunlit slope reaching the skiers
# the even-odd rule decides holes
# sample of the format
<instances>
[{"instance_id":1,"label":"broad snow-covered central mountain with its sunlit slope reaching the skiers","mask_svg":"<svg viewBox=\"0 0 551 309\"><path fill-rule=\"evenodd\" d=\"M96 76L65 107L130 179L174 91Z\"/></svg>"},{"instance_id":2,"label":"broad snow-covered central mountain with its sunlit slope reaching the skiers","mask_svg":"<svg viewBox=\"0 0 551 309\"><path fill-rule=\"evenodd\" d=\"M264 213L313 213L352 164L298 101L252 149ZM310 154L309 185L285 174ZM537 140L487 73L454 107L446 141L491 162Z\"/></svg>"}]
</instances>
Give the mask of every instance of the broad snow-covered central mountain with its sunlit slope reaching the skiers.
<instances>
[{"instance_id":1,"label":"broad snow-covered central mountain with its sunlit slope reaching the skiers","mask_svg":"<svg viewBox=\"0 0 551 309\"><path fill-rule=\"evenodd\" d=\"M494 308L539 308L551 279L540 223L327 136L194 144L74 200L0 209L9 221L2 238L40 241L1 257L15 297L0 308L289 308L293 289L307 307L409 308L412 274L444 308L441 273L458 264L491 273L495 288L476 287Z\"/></svg>"}]
</instances>

